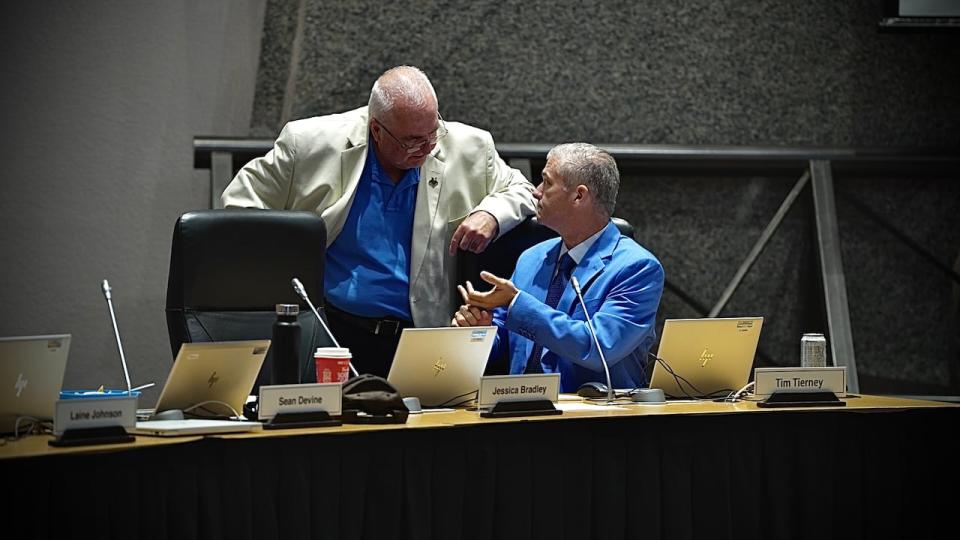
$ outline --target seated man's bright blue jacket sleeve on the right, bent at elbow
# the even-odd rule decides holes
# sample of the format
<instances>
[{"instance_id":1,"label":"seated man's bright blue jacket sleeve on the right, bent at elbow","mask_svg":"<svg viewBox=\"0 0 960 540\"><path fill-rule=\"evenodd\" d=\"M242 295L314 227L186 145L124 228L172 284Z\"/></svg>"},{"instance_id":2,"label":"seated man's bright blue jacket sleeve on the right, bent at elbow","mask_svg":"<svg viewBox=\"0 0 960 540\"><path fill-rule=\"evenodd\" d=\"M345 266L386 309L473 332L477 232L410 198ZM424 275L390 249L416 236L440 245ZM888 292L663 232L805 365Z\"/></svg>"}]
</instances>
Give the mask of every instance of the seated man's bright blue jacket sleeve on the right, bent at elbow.
<instances>
[{"instance_id":1,"label":"seated man's bright blue jacket sleeve on the right, bent at elbow","mask_svg":"<svg viewBox=\"0 0 960 540\"><path fill-rule=\"evenodd\" d=\"M599 308L592 316L593 327L611 366L654 332L663 276L663 267L656 259L642 259L622 268L617 282L599 299ZM587 297L588 307L598 301L589 298L589 293ZM528 293L520 292L506 325L520 335L532 336L533 341L565 360L592 370L603 369L586 320L551 309Z\"/></svg>"}]
</instances>

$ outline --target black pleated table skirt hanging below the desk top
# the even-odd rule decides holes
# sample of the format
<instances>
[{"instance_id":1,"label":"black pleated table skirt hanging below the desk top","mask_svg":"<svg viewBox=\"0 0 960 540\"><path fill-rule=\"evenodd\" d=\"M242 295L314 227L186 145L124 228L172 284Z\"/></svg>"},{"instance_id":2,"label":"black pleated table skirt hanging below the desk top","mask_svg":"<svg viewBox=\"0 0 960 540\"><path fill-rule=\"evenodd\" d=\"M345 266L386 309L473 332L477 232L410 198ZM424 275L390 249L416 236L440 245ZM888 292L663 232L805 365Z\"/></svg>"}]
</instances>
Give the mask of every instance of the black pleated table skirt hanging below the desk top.
<instances>
[{"instance_id":1,"label":"black pleated table skirt hanging below the desk top","mask_svg":"<svg viewBox=\"0 0 960 540\"><path fill-rule=\"evenodd\" d=\"M953 522L958 418L564 419L3 460L4 523L58 539L919 538Z\"/></svg>"}]
</instances>

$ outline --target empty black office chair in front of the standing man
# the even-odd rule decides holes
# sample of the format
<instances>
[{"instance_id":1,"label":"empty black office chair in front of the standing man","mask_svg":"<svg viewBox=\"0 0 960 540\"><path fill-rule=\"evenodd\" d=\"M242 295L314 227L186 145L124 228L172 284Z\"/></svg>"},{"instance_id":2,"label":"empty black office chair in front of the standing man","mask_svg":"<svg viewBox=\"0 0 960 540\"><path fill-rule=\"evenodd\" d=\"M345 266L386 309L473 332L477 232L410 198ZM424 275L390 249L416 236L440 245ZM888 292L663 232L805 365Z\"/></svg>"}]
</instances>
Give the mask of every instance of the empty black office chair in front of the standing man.
<instances>
[{"instance_id":1,"label":"empty black office chair in front of the standing man","mask_svg":"<svg viewBox=\"0 0 960 540\"><path fill-rule=\"evenodd\" d=\"M167 330L176 355L184 342L270 339L276 304L299 304L300 379L316 382L313 351L333 345L293 291L303 282L322 316L327 232L312 212L201 210L177 220L167 280ZM272 354L257 384L270 383Z\"/></svg>"}]
</instances>

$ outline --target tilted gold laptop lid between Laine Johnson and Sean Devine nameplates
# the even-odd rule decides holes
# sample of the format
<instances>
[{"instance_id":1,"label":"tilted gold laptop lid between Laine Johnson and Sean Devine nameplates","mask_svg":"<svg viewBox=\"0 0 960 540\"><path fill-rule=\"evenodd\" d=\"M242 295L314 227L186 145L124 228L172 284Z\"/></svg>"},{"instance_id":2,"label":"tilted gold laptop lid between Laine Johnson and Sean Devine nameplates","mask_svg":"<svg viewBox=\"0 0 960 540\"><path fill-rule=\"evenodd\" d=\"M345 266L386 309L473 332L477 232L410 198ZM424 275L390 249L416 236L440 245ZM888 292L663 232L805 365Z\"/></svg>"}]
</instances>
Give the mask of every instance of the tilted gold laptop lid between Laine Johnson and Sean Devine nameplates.
<instances>
[{"instance_id":1,"label":"tilted gold laptop lid between Laine Johnson and Sean Devine nameplates","mask_svg":"<svg viewBox=\"0 0 960 540\"><path fill-rule=\"evenodd\" d=\"M269 347L269 339L184 343L160 392L156 411L180 409L197 416L243 414L243 404Z\"/></svg>"}]
</instances>

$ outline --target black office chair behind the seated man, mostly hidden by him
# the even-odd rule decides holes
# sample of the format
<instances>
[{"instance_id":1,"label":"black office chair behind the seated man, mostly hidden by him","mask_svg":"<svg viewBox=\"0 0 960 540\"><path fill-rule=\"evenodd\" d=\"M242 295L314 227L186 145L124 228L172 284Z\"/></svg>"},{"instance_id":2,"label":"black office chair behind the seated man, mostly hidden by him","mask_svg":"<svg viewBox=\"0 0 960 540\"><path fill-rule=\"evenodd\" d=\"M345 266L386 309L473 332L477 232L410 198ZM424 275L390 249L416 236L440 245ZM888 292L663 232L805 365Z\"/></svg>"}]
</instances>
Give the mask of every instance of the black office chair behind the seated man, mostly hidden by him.
<instances>
[{"instance_id":1,"label":"black office chair behind the seated man, mostly hidden by him","mask_svg":"<svg viewBox=\"0 0 960 540\"><path fill-rule=\"evenodd\" d=\"M634 228L629 222L615 217L613 223L620 229L621 234L634 237ZM557 233L553 229L541 225L536 217L527 218L498 238L496 242L487 246L483 253L461 251L457 257L457 283L463 284L470 280L477 290L490 290L492 285L480 279L482 270L508 278L513 275L521 253L535 244L556 236ZM509 371L509 358L491 358L487 363L487 375L503 375Z\"/></svg>"}]
</instances>

